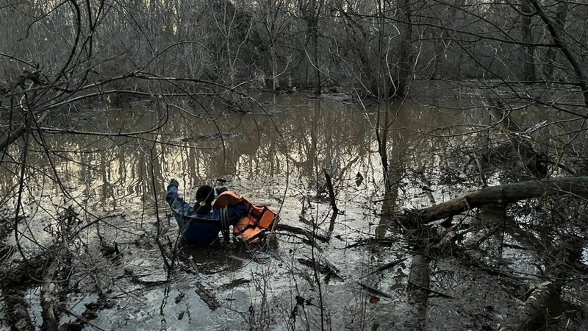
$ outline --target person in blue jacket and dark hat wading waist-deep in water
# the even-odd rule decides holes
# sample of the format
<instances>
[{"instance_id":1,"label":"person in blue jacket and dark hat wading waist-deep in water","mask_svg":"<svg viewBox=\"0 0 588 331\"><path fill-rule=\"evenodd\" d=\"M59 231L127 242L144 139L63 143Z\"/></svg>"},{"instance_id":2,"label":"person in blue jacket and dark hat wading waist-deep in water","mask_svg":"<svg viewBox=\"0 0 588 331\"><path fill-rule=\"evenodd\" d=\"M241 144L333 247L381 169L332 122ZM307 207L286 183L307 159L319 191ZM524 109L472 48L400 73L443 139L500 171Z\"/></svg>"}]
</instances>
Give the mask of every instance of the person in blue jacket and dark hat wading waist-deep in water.
<instances>
[{"instance_id":1,"label":"person in blue jacket and dark hat wading waist-deep in water","mask_svg":"<svg viewBox=\"0 0 588 331\"><path fill-rule=\"evenodd\" d=\"M213 210L215 190L208 185L198 188L196 203L190 206L179 196L178 186L179 183L175 179L169 182L165 200L172 208L173 217L178 222L182 239L186 244L209 246L218 239L220 231L223 237L228 239L229 225L235 224L247 213L244 203ZM226 188L220 188L218 194L224 190Z\"/></svg>"}]
</instances>

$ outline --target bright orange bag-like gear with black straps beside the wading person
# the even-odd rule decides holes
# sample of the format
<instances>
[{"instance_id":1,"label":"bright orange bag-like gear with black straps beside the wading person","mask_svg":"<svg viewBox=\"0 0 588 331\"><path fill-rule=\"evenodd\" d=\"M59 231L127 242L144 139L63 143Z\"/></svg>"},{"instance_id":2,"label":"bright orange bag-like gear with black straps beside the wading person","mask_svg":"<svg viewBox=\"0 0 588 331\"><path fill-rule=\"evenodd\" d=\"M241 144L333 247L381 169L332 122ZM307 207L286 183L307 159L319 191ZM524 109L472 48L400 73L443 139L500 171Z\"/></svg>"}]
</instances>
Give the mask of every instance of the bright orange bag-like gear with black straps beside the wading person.
<instances>
[{"instance_id":1,"label":"bright orange bag-like gear with black straps beside the wading person","mask_svg":"<svg viewBox=\"0 0 588 331\"><path fill-rule=\"evenodd\" d=\"M232 191L220 193L212 207L223 208L240 202L245 203L247 214L233 225L233 235L246 243L257 243L266 230L272 230L278 223L278 215L266 206L255 206Z\"/></svg>"}]
</instances>

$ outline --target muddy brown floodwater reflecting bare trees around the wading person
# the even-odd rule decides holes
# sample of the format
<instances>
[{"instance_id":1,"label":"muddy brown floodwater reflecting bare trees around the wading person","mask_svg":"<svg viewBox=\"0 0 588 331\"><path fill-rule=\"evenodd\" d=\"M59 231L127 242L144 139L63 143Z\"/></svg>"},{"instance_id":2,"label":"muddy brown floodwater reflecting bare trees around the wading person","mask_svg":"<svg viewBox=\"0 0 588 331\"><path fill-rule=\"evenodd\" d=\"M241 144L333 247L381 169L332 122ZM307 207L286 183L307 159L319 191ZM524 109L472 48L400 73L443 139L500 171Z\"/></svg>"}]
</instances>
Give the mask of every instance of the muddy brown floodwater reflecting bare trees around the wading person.
<instances>
[{"instance_id":1,"label":"muddy brown floodwater reflecting bare trees around the wading person","mask_svg":"<svg viewBox=\"0 0 588 331\"><path fill-rule=\"evenodd\" d=\"M68 294L71 313L64 314L62 323L75 320L74 314L81 315L85 304L98 299L99 285L113 306L99 310L91 323L105 330L370 330L375 324L396 329L407 309L410 259L362 278L383 263L410 257L393 220L380 216L384 192L374 129L378 110L387 109L393 119L389 160L392 177L402 183L393 194L397 209L430 206L478 188L479 179L465 171L467 153L459 152L468 143L461 134L492 123L483 108L460 110L472 101L442 94L427 97L426 103L379 108L335 98L259 95L263 109L245 107L246 114L209 101L207 111L189 102L162 107L136 103L57 116L46 134L52 162L38 144L32 144L29 154L22 194L27 218L19 227L22 246L32 255L39 244L49 244L58 229L55 217L64 206L74 206L82 224L103 217L77 241L79 263L72 271L77 287ZM56 124L76 132L59 132L53 129ZM158 125L162 127L153 130ZM19 147L12 148L18 155ZM343 211L333 223L323 168L333 176ZM17 175L6 169L0 173L4 210L14 208ZM319 242L320 250L289 233L276 234L262 249L188 247L184 251L193 264L180 258L184 267L168 279L153 238L159 218L162 240L177 239L165 203L169 178L179 181L188 201L199 185L222 184L279 211L283 224L312 230L310 221L317 233L332 233L331 239ZM489 181L499 183L497 178ZM98 233L117 243L122 253L118 262L97 253ZM390 240L348 248L370 236ZM507 240L518 243L514 234ZM524 262L518 266L521 272L537 272L529 253L512 249L505 254ZM316 275L299 263L312 256L334 264L343 279ZM185 272L194 266L197 274ZM496 283L495 277L453 259L433 260L430 267L433 289L454 299L429 300L429 330L496 327L516 308L507 281ZM366 292L358 281L391 297ZM202 301L196 283L216 297L218 309ZM29 312L39 326L38 297L38 288L26 292ZM305 304L297 304L297 297ZM9 326L2 322L0 327Z\"/></svg>"}]
</instances>

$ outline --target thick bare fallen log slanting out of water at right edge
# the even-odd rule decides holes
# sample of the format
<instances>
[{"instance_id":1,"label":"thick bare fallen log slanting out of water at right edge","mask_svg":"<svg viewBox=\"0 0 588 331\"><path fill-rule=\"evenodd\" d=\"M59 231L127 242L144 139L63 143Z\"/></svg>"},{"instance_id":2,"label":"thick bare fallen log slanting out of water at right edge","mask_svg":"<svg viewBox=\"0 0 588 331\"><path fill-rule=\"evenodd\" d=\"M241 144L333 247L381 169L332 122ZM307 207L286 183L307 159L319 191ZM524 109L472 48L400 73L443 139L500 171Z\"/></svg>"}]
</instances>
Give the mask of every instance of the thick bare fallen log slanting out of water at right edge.
<instances>
[{"instance_id":1,"label":"thick bare fallen log slanting out of water at right edge","mask_svg":"<svg viewBox=\"0 0 588 331\"><path fill-rule=\"evenodd\" d=\"M485 187L481 190L470 191L462 196L432 207L410 211L400 216L400 220L406 223L420 221L426 224L487 204L513 203L528 198L561 196L565 194L587 197L588 176L529 180Z\"/></svg>"}]
</instances>

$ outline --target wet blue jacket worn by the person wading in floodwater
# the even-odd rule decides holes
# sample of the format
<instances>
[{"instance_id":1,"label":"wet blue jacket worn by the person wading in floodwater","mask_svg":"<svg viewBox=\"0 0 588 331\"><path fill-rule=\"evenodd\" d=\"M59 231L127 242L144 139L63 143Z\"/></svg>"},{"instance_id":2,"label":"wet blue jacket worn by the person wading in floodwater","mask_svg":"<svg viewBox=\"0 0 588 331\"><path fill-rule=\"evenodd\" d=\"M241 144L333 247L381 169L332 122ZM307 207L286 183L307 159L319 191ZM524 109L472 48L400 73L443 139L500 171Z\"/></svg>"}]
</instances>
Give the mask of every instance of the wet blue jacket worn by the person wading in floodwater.
<instances>
[{"instance_id":1,"label":"wet blue jacket worn by the person wading in floodwater","mask_svg":"<svg viewBox=\"0 0 588 331\"><path fill-rule=\"evenodd\" d=\"M182 239L194 246L208 246L219 236L221 227L220 210L211 213L198 214L190 204L186 203L178 194L178 187L169 186L165 197L172 207L173 217L178 222ZM229 224L235 224L247 213L244 203L227 207Z\"/></svg>"}]
</instances>

